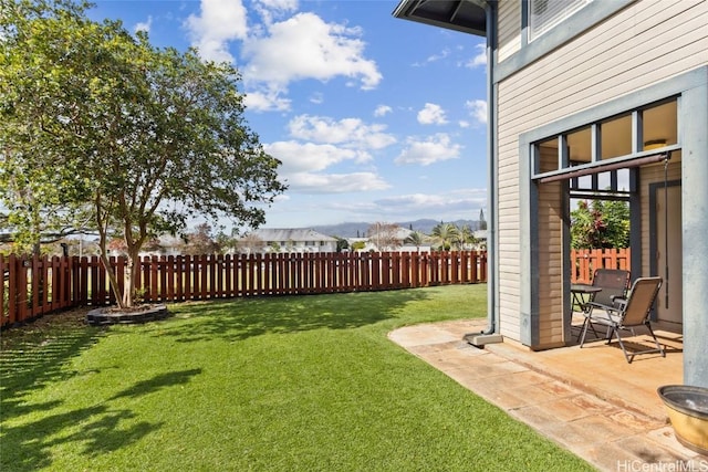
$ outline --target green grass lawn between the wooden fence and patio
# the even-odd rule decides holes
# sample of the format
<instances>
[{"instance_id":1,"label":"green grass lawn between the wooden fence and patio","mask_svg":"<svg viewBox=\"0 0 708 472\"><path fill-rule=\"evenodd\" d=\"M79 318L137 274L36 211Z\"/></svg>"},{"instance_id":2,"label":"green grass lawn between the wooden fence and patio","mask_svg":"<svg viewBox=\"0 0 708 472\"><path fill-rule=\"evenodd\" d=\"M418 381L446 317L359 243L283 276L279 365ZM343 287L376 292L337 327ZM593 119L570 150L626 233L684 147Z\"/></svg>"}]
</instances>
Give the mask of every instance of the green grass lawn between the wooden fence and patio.
<instances>
[{"instance_id":1,"label":"green grass lawn between the wooden fence and patio","mask_svg":"<svg viewBox=\"0 0 708 472\"><path fill-rule=\"evenodd\" d=\"M46 316L2 334L0 469L593 470L386 337L486 316L486 291L185 303L111 328Z\"/></svg>"}]
</instances>

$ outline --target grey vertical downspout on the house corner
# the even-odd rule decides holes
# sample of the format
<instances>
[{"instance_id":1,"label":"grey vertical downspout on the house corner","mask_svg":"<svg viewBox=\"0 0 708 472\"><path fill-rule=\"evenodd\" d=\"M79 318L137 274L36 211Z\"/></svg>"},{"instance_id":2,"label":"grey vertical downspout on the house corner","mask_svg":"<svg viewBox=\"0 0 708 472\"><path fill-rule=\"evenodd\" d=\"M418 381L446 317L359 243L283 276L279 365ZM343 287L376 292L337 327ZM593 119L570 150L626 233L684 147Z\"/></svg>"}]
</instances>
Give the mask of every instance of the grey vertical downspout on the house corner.
<instances>
[{"instance_id":1,"label":"grey vertical downspout on the house corner","mask_svg":"<svg viewBox=\"0 0 708 472\"><path fill-rule=\"evenodd\" d=\"M487 327L480 333L465 335L465 340L473 346L501 343L499 313L497 307L497 92L494 87L494 64L497 44L497 2L485 6L487 22Z\"/></svg>"}]
</instances>

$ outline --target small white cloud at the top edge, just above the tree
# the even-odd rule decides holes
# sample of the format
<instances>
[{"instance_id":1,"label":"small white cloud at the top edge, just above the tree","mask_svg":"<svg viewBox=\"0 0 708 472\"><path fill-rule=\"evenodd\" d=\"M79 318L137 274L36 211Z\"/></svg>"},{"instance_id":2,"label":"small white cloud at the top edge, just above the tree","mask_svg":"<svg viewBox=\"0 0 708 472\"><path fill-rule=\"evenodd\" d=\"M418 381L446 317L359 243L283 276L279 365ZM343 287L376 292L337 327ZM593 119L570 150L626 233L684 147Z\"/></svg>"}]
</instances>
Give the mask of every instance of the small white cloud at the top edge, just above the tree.
<instances>
[{"instance_id":1,"label":"small white cloud at the top edge, just above the tree","mask_svg":"<svg viewBox=\"0 0 708 472\"><path fill-rule=\"evenodd\" d=\"M185 27L202 59L232 63L229 41L247 36L246 17L241 0L201 0L200 15L190 14Z\"/></svg>"}]
</instances>

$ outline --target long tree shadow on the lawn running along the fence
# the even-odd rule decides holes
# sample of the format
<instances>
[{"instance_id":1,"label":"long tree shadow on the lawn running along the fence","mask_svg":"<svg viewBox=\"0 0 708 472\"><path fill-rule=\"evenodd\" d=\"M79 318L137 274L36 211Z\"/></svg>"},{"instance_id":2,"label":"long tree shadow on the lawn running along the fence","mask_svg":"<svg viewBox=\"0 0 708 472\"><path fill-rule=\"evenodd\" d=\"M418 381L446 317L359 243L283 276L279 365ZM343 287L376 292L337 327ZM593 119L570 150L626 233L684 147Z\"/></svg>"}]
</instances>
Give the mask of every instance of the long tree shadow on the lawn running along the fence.
<instances>
[{"instance_id":1,"label":"long tree shadow on the lawn running along the fence","mask_svg":"<svg viewBox=\"0 0 708 472\"><path fill-rule=\"evenodd\" d=\"M407 303L427 297L425 291L406 290L187 303L170 308L176 318L162 324L159 335L183 343L235 342L264 334L350 329L394 318Z\"/></svg>"}]
</instances>

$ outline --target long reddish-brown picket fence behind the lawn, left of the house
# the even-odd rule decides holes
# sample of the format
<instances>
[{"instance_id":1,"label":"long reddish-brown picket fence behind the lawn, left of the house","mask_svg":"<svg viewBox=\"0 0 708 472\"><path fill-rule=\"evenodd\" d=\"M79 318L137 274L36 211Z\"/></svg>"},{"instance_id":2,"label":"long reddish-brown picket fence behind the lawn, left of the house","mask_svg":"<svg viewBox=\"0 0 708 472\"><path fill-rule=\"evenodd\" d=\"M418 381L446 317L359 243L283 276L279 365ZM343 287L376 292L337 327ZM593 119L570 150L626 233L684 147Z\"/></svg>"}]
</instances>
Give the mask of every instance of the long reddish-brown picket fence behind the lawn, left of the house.
<instances>
[{"instance_id":1,"label":"long reddish-brown picket fence behind the lawn, left of the house","mask_svg":"<svg viewBox=\"0 0 708 472\"><path fill-rule=\"evenodd\" d=\"M292 253L169 255L140 260L145 302L414 289L487 281L487 253ZM122 285L125 258L111 258ZM103 263L93 258L0 255L0 325L55 310L115 303ZM121 291L123 286L121 286Z\"/></svg>"}]
</instances>

